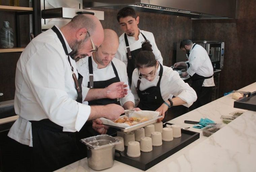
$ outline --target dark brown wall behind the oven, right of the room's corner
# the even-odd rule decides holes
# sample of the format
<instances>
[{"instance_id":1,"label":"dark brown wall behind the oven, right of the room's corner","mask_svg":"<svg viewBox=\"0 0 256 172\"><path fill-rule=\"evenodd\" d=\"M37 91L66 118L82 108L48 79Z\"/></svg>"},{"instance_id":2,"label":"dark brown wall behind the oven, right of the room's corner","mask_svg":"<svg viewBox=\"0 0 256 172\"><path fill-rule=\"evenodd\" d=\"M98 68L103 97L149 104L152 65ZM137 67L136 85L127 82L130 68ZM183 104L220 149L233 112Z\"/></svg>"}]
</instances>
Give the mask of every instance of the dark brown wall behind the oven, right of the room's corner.
<instances>
[{"instance_id":1,"label":"dark brown wall behind the oven, right of the room's corner","mask_svg":"<svg viewBox=\"0 0 256 172\"><path fill-rule=\"evenodd\" d=\"M193 40L225 42L221 96L256 82L255 9L254 0L240 0L237 19L193 20Z\"/></svg>"}]
</instances>

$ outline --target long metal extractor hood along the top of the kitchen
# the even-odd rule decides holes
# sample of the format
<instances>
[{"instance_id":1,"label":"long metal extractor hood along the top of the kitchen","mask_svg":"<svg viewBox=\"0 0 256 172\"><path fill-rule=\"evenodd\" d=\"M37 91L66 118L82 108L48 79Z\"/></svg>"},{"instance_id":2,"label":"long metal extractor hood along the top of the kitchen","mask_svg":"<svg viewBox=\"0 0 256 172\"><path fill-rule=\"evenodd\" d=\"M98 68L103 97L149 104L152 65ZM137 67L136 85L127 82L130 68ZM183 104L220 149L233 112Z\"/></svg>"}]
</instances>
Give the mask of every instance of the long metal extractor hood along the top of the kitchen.
<instances>
[{"instance_id":1,"label":"long metal extractor hood along the top of the kitchen","mask_svg":"<svg viewBox=\"0 0 256 172\"><path fill-rule=\"evenodd\" d=\"M238 0L83 0L83 8L126 6L136 11L200 19L236 18Z\"/></svg>"}]
</instances>

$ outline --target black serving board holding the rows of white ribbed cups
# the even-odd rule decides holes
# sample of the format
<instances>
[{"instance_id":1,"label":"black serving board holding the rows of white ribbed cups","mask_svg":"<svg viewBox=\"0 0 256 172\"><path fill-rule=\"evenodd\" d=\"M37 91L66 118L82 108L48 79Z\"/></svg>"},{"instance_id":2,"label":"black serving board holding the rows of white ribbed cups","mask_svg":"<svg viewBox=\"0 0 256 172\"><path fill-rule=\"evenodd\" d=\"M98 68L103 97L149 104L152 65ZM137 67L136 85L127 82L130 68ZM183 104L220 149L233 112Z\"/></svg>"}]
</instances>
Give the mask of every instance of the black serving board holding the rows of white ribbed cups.
<instances>
[{"instance_id":1,"label":"black serving board holding the rows of white ribbed cups","mask_svg":"<svg viewBox=\"0 0 256 172\"><path fill-rule=\"evenodd\" d=\"M170 123L165 123L163 126L166 127L166 124L172 125ZM136 158L127 156L127 146L125 146L123 152L116 150L115 160L146 171L197 140L199 136L200 134L197 132L181 129L181 137L173 138L172 141L162 141L163 144L161 146L153 146L151 152L140 151L140 156Z\"/></svg>"}]
</instances>

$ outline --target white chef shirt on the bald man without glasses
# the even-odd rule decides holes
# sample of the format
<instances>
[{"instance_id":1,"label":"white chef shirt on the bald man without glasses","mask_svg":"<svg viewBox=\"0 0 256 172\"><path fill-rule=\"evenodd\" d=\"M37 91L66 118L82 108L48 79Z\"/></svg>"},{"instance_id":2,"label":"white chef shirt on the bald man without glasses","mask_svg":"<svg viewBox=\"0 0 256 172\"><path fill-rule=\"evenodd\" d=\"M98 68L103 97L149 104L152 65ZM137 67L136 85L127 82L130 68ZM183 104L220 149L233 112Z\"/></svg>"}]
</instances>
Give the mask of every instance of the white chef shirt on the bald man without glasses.
<instances>
[{"instance_id":1,"label":"white chef shirt on the bald man without glasses","mask_svg":"<svg viewBox=\"0 0 256 172\"><path fill-rule=\"evenodd\" d=\"M113 58L112 62L116 67L120 81L128 85L128 94L124 98L120 99L121 106L123 106L124 103L126 103L127 101L132 101L134 103L134 97L130 91L129 84L128 84L128 77L127 77L125 64L116 58ZM87 88L87 86L88 86L88 82L90 81L88 57L79 59L76 62L76 67L79 74L81 74L84 77L82 86L83 86L83 96L86 97L89 91L89 88ZM93 56L92 56L92 67L93 67L93 81L106 81L116 77L111 63L109 63L105 68L98 69L97 68L98 64L94 61ZM85 99L85 97L83 97L83 100ZM88 101L85 101L84 103L88 104Z\"/></svg>"}]
</instances>

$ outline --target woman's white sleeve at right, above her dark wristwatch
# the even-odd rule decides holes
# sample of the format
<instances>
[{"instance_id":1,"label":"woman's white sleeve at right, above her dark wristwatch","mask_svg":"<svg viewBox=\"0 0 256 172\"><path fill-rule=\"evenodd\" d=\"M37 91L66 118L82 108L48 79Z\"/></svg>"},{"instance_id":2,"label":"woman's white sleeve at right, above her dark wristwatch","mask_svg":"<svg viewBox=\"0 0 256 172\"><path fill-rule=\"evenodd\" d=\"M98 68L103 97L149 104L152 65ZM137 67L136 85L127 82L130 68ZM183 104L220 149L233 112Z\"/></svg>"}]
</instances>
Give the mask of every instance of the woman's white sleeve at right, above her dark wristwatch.
<instances>
[{"instance_id":1,"label":"woman's white sleeve at right, above her dark wristwatch","mask_svg":"<svg viewBox=\"0 0 256 172\"><path fill-rule=\"evenodd\" d=\"M173 71L169 75L169 86L170 94L175 97L180 97L186 104L183 104L186 107L189 107L196 101L197 96L193 88L191 88L188 83L185 83L179 76L178 72ZM172 98L172 97L169 97Z\"/></svg>"}]
</instances>

